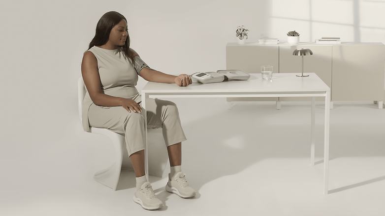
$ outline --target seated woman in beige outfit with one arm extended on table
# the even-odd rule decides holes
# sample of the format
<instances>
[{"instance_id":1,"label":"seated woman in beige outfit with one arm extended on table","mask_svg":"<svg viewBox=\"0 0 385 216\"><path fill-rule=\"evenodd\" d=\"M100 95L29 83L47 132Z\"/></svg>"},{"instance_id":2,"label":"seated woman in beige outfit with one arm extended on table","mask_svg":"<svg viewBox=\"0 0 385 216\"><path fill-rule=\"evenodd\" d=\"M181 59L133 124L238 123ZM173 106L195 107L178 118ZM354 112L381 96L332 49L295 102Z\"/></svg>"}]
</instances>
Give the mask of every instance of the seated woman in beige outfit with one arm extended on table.
<instances>
[{"instance_id":1,"label":"seated woman in beige outfit with one arm extended on table","mask_svg":"<svg viewBox=\"0 0 385 216\"><path fill-rule=\"evenodd\" d=\"M89 50L84 53L82 76L87 92L83 101L83 128L107 128L125 135L128 155L136 175L136 192L133 200L144 209L155 210L163 206L148 182L144 169L145 118L140 106L141 97L135 85L138 76L147 81L192 83L186 74L172 76L151 69L129 48L126 18L115 11L105 13L96 26L96 34ZM147 127L162 128L171 172L165 189L180 197L195 196L181 170L182 130L178 108L169 101L147 99Z\"/></svg>"}]
</instances>

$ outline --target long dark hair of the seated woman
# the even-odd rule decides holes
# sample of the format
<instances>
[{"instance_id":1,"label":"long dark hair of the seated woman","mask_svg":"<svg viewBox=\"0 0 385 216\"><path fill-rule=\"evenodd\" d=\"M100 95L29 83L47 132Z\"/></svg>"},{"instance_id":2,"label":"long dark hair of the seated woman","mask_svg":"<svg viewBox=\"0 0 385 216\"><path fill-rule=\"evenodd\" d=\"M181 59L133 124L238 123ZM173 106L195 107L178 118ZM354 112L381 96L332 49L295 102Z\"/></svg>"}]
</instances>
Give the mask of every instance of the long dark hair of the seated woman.
<instances>
[{"instance_id":1,"label":"long dark hair of the seated woman","mask_svg":"<svg viewBox=\"0 0 385 216\"><path fill-rule=\"evenodd\" d=\"M116 26L120 21L125 20L126 17L116 11L110 11L105 13L97 22L95 37L92 39L88 49L94 46L102 46L107 43L110 36L111 29ZM129 35L127 33L127 39L125 45L122 46L124 54L130 58L133 62L133 52L129 49Z\"/></svg>"}]
</instances>

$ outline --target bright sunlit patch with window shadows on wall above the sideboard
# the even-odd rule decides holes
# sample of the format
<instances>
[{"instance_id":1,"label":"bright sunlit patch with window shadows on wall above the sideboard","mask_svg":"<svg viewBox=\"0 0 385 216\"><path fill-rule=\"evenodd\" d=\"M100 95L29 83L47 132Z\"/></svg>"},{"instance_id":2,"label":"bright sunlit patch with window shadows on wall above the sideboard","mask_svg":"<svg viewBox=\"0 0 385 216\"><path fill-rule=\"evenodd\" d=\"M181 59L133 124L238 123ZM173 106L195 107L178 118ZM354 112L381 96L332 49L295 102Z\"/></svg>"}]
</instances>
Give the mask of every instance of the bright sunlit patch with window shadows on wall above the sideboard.
<instances>
[{"instance_id":1,"label":"bright sunlit patch with window shadows on wall above the sideboard","mask_svg":"<svg viewBox=\"0 0 385 216\"><path fill-rule=\"evenodd\" d=\"M341 37L342 41L385 42L384 0L299 0L298 3L271 1L272 37L287 41L286 32L296 30L301 41Z\"/></svg>"}]
</instances>

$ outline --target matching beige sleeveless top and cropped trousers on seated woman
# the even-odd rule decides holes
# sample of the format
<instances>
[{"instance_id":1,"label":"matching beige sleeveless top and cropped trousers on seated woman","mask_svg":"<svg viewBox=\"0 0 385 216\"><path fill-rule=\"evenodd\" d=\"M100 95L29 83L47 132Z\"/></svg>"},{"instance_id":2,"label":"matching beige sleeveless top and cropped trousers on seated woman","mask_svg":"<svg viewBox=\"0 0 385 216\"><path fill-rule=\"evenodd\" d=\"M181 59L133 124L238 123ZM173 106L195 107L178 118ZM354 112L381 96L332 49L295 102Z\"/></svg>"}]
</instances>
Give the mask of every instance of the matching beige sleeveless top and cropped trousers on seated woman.
<instances>
[{"instance_id":1,"label":"matching beige sleeveless top and cropped trousers on seated woman","mask_svg":"<svg viewBox=\"0 0 385 216\"><path fill-rule=\"evenodd\" d=\"M143 67L148 67L148 65L138 56L135 56L135 62L132 64L121 49L106 50L92 47L89 51L96 56L104 94L128 98L140 103L141 97L135 85L140 70ZM186 136L176 105L170 101L147 100L147 127L161 127L166 146L185 141ZM90 132L91 127L107 128L125 135L128 155L131 155L145 148L144 116L142 113L128 112L123 107L97 106L86 91L82 110L83 129Z\"/></svg>"}]
</instances>

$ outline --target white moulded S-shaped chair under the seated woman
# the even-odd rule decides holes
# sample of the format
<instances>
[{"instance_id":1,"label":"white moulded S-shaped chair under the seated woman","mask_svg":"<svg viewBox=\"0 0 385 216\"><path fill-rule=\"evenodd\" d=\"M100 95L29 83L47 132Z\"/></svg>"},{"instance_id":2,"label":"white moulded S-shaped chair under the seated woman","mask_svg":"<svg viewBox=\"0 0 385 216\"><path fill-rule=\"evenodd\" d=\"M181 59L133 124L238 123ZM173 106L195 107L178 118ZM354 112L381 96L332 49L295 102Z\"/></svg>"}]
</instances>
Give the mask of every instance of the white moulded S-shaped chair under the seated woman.
<instances>
[{"instance_id":1,"label":"white moulded S-shaped chair under the seated woman","mask_svg":"<svg viewBox=\"0 0 385 216\"><path fill-rule=\"evenodd\" d=\"M82 107L83 99L86 94L83 78L80 77L78 80L78 108L80 123L82 122ZM132 164L128 157L126 148L126 141L123 135L114 133L105 128L91 128L91 133L106 135L111 138L112 143L115 147L116 162L111 166L96 172L94 179L102 185L105 185L112 190L116 190L121 171L132 171ZM147 130L148 137L148 174L151 176L162 177L164 169L167 165L168 155L165 147L162 129L151 129Z\"/></svg>"}]
</instances>

